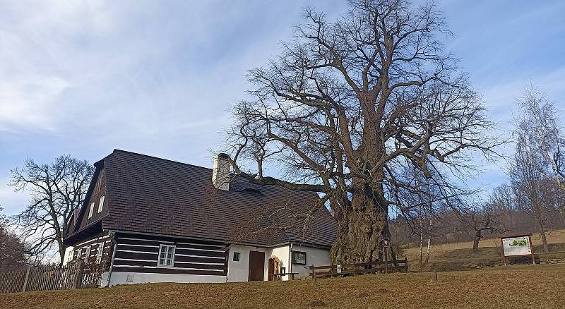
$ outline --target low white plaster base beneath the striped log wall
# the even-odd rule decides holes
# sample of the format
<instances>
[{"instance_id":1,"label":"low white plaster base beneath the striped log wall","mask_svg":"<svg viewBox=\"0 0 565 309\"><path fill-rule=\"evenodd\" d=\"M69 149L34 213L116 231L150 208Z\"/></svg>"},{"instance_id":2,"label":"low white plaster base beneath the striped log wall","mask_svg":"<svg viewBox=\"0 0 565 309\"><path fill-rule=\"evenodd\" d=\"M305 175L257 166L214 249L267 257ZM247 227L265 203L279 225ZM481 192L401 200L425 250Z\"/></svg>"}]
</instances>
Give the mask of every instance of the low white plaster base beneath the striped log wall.
<instances>
[{"instance_id":1,"label":"low white plaster base beneath the striped log wall","mask_svg":"<svg viewBox=\"0 0 565 309\"><path fill-rule=\"evenodd\" d=\"M127 282L128 274L133 275L133 281ZM107 279L102 277L102 284ZM145 272L112 272L110 286L118 284L141 284L148 282L184 282L184 283L216 283L225 282L226 276L203 276L197 274L151 274Z\"/></svg>"}]
</instances>

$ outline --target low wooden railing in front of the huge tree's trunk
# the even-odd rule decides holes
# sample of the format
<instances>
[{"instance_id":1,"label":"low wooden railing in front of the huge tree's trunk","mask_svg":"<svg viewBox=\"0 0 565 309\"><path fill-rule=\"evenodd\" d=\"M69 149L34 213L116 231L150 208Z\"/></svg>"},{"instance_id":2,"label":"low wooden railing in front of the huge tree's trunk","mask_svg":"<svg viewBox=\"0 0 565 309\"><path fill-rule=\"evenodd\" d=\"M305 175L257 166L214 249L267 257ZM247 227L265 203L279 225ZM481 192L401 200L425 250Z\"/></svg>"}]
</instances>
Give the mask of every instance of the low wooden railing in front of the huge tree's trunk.
<instances>
[{"instance_id":1,"label":"low wooden railing in front of the huge tree's trunk","mask_svg":"<svg viewBox=\"0 0 565 309\"><path fill-rule=\"evenodd\" d=\"M316 283L318 278L338 277L338 276L355 276L357 274L375 274L377 272L408 272L408 259L379 261L370 263L353 263L345 265L323 265L323 266L305 266L310 269L310 275Z\"/></svg>"}]
</instances>

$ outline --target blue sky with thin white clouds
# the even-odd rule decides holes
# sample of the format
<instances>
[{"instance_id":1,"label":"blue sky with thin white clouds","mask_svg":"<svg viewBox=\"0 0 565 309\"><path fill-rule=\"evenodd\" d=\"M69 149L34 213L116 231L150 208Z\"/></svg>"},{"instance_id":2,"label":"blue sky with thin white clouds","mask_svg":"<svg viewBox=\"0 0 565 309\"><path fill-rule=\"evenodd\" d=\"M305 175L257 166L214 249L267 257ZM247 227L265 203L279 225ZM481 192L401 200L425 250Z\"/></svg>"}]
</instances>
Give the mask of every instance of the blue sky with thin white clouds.
<instances>
[{"instance_id":1,"label":"blue sky with thin white clouds","mask_svg":"<svg viewBox=\"0 0 565 309\"><path fill-rule=\"evenodd\" d=\"M565 1L437 3L455 34L447 48L499 124L492 134L510 137L530 80L565 110ZM346 9L337 0L0 0L4 214L28 201L7 186L26 157L95 162L121 149L211 166L228 109L249 88L246 70L280 52L305 6L328 20ZM505 180L504 162L480 167L472 185Z\"/></svg>"}]
</instances>

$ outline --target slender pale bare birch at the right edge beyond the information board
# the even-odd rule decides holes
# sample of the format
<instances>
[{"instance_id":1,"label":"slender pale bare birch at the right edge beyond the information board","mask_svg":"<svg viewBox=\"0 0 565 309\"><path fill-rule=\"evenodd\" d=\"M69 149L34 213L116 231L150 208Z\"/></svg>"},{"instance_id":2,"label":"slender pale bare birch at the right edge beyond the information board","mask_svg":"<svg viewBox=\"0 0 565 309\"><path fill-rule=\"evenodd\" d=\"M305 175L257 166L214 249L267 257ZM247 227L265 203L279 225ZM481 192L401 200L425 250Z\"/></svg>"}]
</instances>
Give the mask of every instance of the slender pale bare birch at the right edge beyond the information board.
<instances>
[{"instance_id":1,"label":"slender pale bare birch at the right edge beyond the information board","mask_svg":"<svg viewBox=\"0 0 565 309\"><path fill-rule=\"evenodd\" d=\"M557 119L557 111L553 104L548 102L545 92L530 83L525 87L518 104L521 114L516 119L514 129L516 154L511 162L509 174L516 188L516 198L535 219L543 250L547 252L547 215L554 210L554 205L562 205L559 200L555 200L559 199L561 194L556 194L548 181L552 181L559 190L565 190L565 158L562 153L564 137Z\"/></svg>"}]
</instances>

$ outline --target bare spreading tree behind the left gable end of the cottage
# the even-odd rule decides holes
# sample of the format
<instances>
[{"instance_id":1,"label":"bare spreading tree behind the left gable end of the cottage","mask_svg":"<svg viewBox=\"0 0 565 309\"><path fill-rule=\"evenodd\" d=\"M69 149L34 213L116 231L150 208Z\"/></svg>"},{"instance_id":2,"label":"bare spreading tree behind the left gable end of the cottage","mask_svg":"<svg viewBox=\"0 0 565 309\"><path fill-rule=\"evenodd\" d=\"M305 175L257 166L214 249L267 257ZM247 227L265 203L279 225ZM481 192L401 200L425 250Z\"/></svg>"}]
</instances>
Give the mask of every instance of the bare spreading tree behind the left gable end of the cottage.
<instances>
[{"instance_id":1,"label":"bare spreading tree behind the left gable end of the cottage","mask_svg":"<svg viewBox=\"0 0 565 309\"><path fill-rule=\"evenodd\" d=\"M28 245L28 255L57 250L62 263L63 232L73 210L81 207L93 172L94 167L88 162L69 155L58 157L52 164L25 159L22 169L11 171L10 186L17 191L27 189L31 196L30 204L11 218Z\"/></svg>"}]
</instances>

